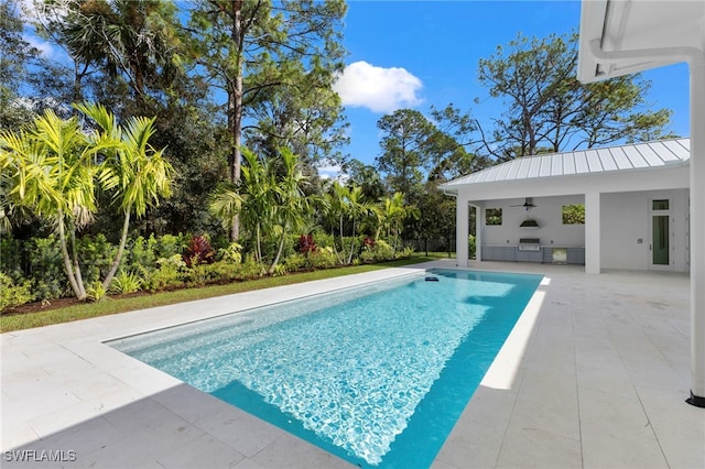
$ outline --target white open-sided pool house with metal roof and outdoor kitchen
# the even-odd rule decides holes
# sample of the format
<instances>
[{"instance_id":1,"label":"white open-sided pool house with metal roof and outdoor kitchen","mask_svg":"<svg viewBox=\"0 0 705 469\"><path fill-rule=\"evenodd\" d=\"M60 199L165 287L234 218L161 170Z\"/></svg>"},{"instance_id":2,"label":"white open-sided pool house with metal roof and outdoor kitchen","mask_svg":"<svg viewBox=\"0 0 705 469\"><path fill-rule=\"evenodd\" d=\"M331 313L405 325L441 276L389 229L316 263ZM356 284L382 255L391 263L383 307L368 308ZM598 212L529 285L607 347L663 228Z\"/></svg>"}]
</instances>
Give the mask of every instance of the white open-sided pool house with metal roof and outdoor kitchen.
<instances>
[{"instance_id":1,"label":"white open-sided pool house with metal roof and outdoor kitchen","mask_svg":"<svg viewBox=\"0 0 705 469\"><path fill-rule=\"evenodd\" d=\"M690 140L528 156L443 184L457 198L457 259L690 270ZM563 220L583 206L586 222Z\"/></svg>"}]
</instances>

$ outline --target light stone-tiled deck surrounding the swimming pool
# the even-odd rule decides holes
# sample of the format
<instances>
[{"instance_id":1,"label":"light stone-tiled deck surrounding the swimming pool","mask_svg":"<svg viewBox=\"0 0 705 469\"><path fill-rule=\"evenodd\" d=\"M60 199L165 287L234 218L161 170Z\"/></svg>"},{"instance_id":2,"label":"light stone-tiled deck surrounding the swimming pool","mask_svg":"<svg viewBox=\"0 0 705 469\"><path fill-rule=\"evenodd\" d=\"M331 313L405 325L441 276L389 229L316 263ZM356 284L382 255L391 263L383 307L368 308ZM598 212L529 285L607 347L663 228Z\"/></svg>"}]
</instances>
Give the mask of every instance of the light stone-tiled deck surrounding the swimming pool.
<instances>
[{"instance_id":1,"label":"light stone-tiled deck surrounding the swimming pool","mask_svg":"<svg viewBox=\"0 0 705 469\"><path fill-rule=\"evenodd\" d=\"M352 467L102 342L430 265L2 334L0 465ZM434 468L705 467L705 410L684 402L687 275L590 275L529 263L471 268L545 279ZM21 457L29 461L18 462Z\"/></svg>"}]
</instances>

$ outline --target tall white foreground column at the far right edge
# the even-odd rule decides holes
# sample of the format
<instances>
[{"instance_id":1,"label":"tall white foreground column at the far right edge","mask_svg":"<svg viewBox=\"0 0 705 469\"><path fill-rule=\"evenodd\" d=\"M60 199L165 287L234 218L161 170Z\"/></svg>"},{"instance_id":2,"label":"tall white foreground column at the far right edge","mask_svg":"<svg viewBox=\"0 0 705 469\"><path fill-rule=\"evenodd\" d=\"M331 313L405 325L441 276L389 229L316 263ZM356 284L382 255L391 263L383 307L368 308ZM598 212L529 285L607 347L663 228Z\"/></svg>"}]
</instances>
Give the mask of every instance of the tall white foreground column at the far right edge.
<instances>
[{"instance_id":1,"label":"tall white foreground column at the far right edge","mask_svg":"<svg viewBox=\"0 0 705 469\"><path fill-rule=\"evenodd\" d=\"M705 407L705 52L691 61L691 396Z\"/></svg>"}]
</instances>

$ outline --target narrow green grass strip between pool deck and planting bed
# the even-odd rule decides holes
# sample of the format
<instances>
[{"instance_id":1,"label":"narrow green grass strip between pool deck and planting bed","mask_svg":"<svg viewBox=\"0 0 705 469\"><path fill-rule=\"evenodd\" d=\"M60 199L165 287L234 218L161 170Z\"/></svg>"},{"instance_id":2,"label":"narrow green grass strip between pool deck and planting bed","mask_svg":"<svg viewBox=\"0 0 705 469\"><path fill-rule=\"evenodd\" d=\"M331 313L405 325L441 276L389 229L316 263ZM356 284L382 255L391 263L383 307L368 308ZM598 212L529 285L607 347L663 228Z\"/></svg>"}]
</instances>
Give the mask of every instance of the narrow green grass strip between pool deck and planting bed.
<instances>
[{"instance_id":1,"label":"narrow green grass strip between pool deck and planting bed","mask_svg":"<svg viewBox=\"0 0 705 469\"><path fill-rule=\"evenodd\" d=\"M291 285L313 280L333 279L355 273L372 272L381 269L398 268L447 258L445 253L430 253L414 255L409 259L381 262L379 264L352 265L313 272L295 273L275 277L262 277L248 282L212 285L200 288L184 288L174 292L160 292L149 295L109 297L99 303L78 303L66 307L52 308L37 313L0 316L0 332L30 329L52 324L68 323L98 316L147 309L155 306L173 305L195 299L213 298L215 296L231 295L234 293L271 288L273 286Z\"/></svg>"}]
</instances>

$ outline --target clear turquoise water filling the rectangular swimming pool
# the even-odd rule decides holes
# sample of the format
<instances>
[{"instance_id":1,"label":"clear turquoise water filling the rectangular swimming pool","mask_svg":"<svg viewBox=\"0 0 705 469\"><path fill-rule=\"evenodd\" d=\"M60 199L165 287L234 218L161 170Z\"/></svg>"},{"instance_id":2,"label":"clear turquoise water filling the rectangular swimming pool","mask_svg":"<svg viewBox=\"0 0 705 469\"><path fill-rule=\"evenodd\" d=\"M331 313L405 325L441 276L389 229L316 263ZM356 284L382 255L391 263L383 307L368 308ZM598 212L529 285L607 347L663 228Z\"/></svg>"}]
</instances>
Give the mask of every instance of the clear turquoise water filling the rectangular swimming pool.
<instances>
[{"instance_id":1,"label":"clear turquoise water filling the rectangular swimming pool","mask_svg":"<svg viewBox=\"0 0 705 469\"><path fill-rule=\"evenodd\" d=\"M355 465L427 467L540 282L434 270L110 345Z\"/></svg>"}]
</instances>

